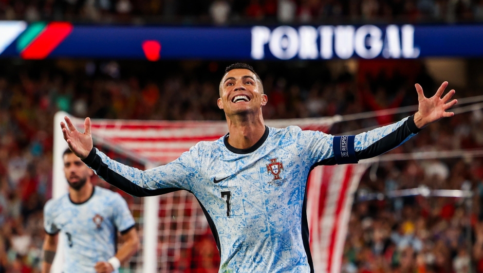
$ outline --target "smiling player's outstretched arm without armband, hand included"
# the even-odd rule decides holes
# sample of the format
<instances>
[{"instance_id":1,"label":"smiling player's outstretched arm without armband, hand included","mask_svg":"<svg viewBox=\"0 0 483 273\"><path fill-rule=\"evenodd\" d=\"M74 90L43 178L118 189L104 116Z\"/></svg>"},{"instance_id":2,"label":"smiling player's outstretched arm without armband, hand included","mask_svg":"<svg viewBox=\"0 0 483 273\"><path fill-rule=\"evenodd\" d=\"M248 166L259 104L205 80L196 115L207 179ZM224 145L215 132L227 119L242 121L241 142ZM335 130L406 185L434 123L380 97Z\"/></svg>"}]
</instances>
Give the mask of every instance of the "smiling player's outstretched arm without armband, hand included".
<instances>
[{"instance_id":1,"label":"smiling player's outstretched arm without armband, hand included","mask_svg":"<svg viewBox=\"0 0 483 273\"><path fill-rule=\"evenodd\" d=\"M79 132L68 117L65 117L65 121L66 123L61 122L61 127L70 150L97 175L120 190L142 197L180 189L191 191L193 188L196 171L193 167L192 153L196 153L196 149L192 148L190 152L183 153L167 165L142 171L112 160L94 148L89 118L84 121L84 133Z\"/></svg>"}]
</instances>

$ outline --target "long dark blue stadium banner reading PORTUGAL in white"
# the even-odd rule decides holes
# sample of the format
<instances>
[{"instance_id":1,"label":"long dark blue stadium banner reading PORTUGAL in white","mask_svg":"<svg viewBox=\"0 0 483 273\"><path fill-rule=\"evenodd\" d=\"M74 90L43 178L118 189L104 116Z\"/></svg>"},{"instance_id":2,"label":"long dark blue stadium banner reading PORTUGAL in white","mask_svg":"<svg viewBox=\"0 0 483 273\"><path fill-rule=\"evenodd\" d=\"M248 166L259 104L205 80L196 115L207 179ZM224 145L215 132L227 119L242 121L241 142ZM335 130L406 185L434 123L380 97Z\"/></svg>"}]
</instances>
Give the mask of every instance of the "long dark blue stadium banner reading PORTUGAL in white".
<instances>
[{"instance_id":1,"label":"long dark blue stadium banner reading PORTUGAL in white","mask_svg":"<svg viewBox=\"0 0 483 273\"><path fill-rule=\"evenodd\" d=\"M483 25L168 27L0 21L0 57L328 60L483 56ZM4 35L5 33L5 35Z\"/></svg>"}]
</instances>

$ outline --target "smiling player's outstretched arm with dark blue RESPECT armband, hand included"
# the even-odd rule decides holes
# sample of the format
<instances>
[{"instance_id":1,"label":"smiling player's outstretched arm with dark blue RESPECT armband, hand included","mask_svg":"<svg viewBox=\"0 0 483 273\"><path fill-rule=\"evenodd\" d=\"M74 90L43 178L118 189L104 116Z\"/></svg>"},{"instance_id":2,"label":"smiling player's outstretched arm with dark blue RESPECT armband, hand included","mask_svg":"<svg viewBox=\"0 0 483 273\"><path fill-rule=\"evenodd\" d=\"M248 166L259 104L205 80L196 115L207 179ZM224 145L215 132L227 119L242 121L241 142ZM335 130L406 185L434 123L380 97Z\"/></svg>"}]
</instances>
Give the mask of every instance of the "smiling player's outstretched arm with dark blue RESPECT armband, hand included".
<instances>
[{"instance_id":1,"label":"smiling player's outstretched arm with dark blue RESPECT armband, hand included","mask_svg":"<svg viewBox=\"0 0 483 273\"><path fill-rule=\"evenodd\" d=\"M421 86L416 84L419 111L391 125L351 136L331 136L319 132L305 133L305 131L303 134L311 135L302 138L305 139L302 145L308 148L310 163L317 165L357 163L358 160L375 157L398 147L415 136L424 126L443 117L454 115L446 111L457 103L456 100L450 101L455 91L451 90L441 98L447 86L448 82L443 82L433 97L425 98Z\"/></svg>"}]
</instances>

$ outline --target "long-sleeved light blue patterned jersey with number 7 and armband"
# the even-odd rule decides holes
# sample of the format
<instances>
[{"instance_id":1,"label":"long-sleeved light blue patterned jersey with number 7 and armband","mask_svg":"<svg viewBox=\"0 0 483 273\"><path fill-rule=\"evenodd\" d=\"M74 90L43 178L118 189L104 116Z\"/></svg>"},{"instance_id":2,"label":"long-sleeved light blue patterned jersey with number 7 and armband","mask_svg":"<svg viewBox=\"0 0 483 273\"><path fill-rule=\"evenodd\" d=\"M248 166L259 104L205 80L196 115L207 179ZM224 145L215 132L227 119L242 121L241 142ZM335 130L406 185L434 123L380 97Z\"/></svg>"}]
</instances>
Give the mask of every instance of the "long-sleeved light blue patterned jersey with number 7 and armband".
<instances>
[{"instance_id":1,"label":"long-sleeved light blue patterned jersey with number 7 and armband","mask_svg":"<svg viewBox=\"0 0 483 273\"><path fill-rule=\"evenodd\" d=\"M310 170L382 154L418 131L413 117L355 136L267 127L249 149L232 147L226 135L201 141L173 162L146 171L95 148L84 162L136 196L193 193L220 251L219 272L313 272L305 213Z\"/></svg>"}]
</instances>

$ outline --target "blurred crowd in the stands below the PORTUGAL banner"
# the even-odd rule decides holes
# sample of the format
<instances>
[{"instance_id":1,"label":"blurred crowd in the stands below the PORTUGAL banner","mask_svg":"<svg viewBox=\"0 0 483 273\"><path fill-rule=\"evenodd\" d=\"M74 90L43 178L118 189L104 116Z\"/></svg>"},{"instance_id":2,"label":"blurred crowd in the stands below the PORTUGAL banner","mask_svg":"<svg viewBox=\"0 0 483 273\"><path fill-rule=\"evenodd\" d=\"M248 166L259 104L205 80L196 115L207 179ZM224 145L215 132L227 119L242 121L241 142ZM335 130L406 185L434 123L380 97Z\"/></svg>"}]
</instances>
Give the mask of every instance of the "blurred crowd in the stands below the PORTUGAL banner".
<instances>
[{"instance_id":1,"label":"blurred crowd in the stands below the PORTUGAL banner","mask_svg":"<svg viewBox=\"0 0 483 273\"><path fill-rule=\"evenodd\" d=\"M357 62L357 65L354 65ZM417 60L255 62L269 103L266 119L357 114L414 105L436 83ZM178 61L0 61L0 272L39 272L42 208L51 198L53 115L109 119L222 120L218 85L229 63ZM450 85L450 88L452 86ZM457 89L458 97L474 96ZM477 90L477 89L475 89ZM330 133L358 133L408 115L339 123ZM393 153L483 147L483 112L428 126ZM483 272L483 161L478 158L391 161L372 167L359 191L471 189L461 198L356 201L344 272ZM471 207L471 210L468 208ZM184 257L184 258L183 258ZM210 234L172 267L216 272Z\"/></svg>"}]
</instances>

